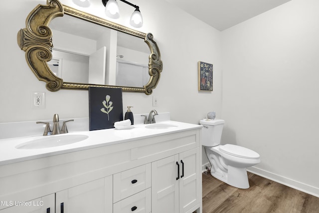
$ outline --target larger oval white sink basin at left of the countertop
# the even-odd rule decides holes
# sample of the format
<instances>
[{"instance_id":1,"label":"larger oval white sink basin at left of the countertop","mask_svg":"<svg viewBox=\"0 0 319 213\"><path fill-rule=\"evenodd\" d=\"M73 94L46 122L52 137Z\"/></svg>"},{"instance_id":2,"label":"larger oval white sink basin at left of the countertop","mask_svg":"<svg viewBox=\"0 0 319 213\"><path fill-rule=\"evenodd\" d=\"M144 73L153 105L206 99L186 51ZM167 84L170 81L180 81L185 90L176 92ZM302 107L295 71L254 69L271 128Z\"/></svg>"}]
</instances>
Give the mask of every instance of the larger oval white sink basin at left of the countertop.
<instances>
[{"instance_id":1,"label":"larger oval white sink basin at left of the countertop","mask_svg":"<svg viewBox=\"0 0 319 213\"><path fill-rule=\"evenodd\" d=\"M51 135L45 138L34 139L17 145L16 149L43 149L50 147L63 146L84 141L87 135Z\"/></svg>"}]
</instances>

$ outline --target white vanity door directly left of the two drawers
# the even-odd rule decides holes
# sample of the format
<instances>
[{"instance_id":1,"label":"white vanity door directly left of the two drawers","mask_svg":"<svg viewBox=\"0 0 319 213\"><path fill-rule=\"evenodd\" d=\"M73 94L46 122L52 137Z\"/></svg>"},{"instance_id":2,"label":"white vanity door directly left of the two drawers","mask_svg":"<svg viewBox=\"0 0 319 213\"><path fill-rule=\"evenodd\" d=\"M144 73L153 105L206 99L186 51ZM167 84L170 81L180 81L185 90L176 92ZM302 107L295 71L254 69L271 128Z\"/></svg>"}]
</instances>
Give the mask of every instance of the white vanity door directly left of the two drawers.
<instances>
[{"instance_id":1,"label":"white vanity door directly left of the two drawers","mask_svg":"<svg viewBox=\"0 0 319 213\"><path fill-rule=\"evenodd\" d=\"M113 177L108 176L56 193L56 213L113 212Z\"/></svg>"}]
</instances>

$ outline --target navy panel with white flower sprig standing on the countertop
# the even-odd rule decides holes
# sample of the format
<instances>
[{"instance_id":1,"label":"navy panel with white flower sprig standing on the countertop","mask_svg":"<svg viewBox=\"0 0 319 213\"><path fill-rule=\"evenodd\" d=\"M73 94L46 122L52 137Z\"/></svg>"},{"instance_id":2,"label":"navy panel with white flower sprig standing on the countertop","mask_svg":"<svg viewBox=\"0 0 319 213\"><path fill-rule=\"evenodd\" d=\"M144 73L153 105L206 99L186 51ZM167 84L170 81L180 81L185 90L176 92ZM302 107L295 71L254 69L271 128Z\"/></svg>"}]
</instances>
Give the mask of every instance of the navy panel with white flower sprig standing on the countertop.
<instances>
[{"instance_id":1,"label":"navy panel with white flower sprig standing on the countertop","mask_svg":"<svg viewBox=\"0 0 319 213\"><path fill-rule=\"evenodd\" d=\"M90 131L114 128L123 121L121 88L89 87Z\"/></svg>"}]
</instances>

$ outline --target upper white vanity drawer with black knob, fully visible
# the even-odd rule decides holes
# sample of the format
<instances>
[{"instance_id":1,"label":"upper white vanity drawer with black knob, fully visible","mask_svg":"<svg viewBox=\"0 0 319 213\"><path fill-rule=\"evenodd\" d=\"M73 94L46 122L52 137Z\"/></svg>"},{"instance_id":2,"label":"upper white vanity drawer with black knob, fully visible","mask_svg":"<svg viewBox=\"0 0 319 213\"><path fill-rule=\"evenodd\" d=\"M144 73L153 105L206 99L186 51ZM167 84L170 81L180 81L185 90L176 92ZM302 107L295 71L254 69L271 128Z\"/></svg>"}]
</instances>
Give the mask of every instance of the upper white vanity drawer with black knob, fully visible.
<instances>
[{"instance_id":1,"label":"upper white vanity drawer with black knob, fully visible","mask_svg":"<svg viewBox=\"0 0 319 213\"><path fill-rule=\"evenodd\" d=\"M151 164L146 164L113 176L113 203L151 187Z\"/></svg>"}]
</instances>

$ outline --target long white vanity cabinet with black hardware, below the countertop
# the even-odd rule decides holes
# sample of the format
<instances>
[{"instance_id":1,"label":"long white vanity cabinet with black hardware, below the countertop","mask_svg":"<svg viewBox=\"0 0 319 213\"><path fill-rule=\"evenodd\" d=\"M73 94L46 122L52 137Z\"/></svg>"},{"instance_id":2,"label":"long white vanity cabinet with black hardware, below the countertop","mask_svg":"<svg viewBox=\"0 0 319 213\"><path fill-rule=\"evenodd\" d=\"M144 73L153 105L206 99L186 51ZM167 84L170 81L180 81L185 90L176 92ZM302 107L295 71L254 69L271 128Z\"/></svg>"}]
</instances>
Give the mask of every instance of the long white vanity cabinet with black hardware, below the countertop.
<instances>
[{"instance_id":1,"label":"long white vanity cabinet with black hardware, below the countertop","mask_svg":"<svg viewBox=\"0 0 319 213\"><path fill-rule=\"evenodd\" d=\"M201 213L197 126L0 164L1 202L43 200L0 213Z\"/></svg>"}]
</instances>

